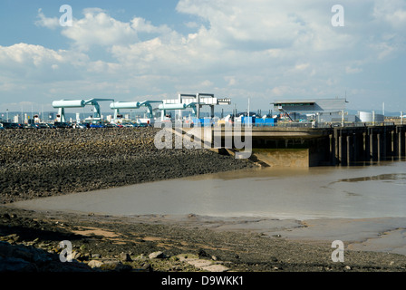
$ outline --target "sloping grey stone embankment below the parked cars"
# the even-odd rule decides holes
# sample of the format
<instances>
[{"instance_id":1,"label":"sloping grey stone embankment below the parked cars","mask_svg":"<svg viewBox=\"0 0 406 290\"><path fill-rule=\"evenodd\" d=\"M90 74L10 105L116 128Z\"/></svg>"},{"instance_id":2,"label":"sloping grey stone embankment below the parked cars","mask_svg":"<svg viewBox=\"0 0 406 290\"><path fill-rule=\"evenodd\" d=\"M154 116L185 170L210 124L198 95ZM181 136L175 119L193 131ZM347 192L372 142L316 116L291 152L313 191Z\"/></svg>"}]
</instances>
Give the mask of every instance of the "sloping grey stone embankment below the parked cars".
<instances>
[{"instance_id":1,"label":"sloping grey stone embankment below the parked cars","mask_svg":"<svg viewBox=\"0 0 406 290\"><path fill-rule=\"evenodd\" d=\"M254 166L210 150L159 150L159 130L2 131L0 203Z\"/></svg>"}]
</instances>

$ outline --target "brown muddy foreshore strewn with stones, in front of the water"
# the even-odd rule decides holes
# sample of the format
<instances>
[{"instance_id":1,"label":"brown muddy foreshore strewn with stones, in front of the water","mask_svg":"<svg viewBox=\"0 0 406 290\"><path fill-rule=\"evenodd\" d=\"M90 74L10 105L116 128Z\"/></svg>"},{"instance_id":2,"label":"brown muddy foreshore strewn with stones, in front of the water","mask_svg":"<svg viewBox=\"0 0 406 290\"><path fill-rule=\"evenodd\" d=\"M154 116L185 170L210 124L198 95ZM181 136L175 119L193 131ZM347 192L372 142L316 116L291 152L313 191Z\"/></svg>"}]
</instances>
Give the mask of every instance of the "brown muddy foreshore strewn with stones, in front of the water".
<instances>
[{"instance_id":1,"label":"brown muddy foreshore strewn with stones, in front of the water","mask_svg":"<svg viewBox=\"0 0 406 290\"><path fill-rule=\"evenodd\" d=\"M5 247L1 243L10 243L10 247L35 247L53 253L52 265L42 262L29 272L406 271L404 255L353 249L347 243L345 260L334 263L331 241L285 236L308 227L293 220L282 221L284 227L281 220L262 219L275 227L275 231L266 232L264 224L248 229L247 223L258 222L256 218L193 214L114 217L0 206L0 217L3 236L0 247ZM58 244L62 240L72 241L75 263L59 261L62 249ZM162 256L150 258L154 253ZM199 267L202 263L212 268Z\"/></svg>"}]
</instances>

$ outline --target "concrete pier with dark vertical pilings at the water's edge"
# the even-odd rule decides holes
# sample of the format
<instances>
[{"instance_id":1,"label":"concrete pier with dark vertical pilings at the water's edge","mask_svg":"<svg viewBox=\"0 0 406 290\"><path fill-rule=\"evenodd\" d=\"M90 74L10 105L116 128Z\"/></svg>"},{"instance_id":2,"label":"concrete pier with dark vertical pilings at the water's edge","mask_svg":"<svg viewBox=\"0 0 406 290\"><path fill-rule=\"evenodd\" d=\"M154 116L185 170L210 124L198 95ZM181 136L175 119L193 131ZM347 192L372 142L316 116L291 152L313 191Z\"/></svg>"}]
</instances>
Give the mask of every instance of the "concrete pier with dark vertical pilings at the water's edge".
<instances>
[{"instance_id":1,"label":"concrete pier with dark vertical pilings at the water's edge","mask_svg":"<svg viewBox=\"0 0 406 290\"><path fill-rule=\"evenodd\" d=\"M220 134L223 139L226 136L221 129L215 129L214 134ZM244 135L244 131L240 134ZM281 155L281 152L276 150L291 150L291 152L308 150L309 167L351 166L362 162L401 160L406 157L406 125L334 128L254 127L251 135L254 151L271 150L274 153L267 152L266 160L269 160L272 154L277 154L278 158L284 156L285 164L304 164L304 162L293 162L292 159L295 159L297 154ZM256 160L261 160L261 153L255 155Z\"/></svg>"}]
</instances>

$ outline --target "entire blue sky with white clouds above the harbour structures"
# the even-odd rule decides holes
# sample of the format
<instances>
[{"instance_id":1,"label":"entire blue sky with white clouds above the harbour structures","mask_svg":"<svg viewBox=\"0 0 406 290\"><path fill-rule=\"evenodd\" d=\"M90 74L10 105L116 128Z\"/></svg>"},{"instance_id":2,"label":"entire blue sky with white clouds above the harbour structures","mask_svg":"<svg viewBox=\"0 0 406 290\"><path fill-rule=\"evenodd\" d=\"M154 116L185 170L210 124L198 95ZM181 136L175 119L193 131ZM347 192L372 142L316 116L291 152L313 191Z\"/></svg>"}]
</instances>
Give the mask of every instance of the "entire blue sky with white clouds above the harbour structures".
<instances>
[{"instance_id":1,"label":"entire blue sky with white clouds above the harbour structures","mask_svg":"<svg viewBox=\"0 0 406 290\"><path fill-rule=\"evenodd\" d=\"M349 109L406 111L405 27L404 0L1 0L0 111L197 92L241 110L346 95Z\"/></svg>"}]
</instances>

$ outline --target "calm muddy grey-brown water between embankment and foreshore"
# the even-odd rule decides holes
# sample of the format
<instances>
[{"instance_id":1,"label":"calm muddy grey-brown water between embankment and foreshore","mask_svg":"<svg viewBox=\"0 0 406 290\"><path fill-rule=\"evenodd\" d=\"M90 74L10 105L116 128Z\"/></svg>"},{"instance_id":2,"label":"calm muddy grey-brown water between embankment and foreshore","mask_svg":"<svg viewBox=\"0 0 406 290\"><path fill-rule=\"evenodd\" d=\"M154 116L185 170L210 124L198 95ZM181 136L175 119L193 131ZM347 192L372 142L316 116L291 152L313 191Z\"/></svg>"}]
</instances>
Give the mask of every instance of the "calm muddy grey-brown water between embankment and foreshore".
<instances>
[{"instance_id":1,"label":"calm muddy grey-brown water between embankment and foreshore","mask_svg":"<svg viewBox=\"0 0 406 290\"><path fill-rule=\"evenodd\" d=\"M119 216L405 218L406 162L238 170L40 198L14 207Z\"/></svg>"}]
</instances>

